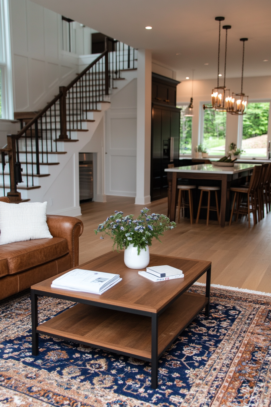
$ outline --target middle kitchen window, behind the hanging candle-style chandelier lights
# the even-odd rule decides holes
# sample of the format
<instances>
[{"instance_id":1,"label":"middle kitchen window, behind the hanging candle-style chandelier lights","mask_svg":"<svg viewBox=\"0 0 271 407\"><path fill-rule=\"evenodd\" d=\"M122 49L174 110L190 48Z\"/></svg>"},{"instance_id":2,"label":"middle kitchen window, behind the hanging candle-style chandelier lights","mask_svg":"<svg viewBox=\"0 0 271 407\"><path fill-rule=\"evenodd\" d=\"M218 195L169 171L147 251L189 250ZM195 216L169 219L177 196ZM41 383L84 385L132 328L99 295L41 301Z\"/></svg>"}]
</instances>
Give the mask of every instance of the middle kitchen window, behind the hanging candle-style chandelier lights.
<instances>
[{"instance_id":1,"label":"middle kitchen window, behind the hanging candle-style chandelier lights","mask_svg":"<svg viewBox=\"0 0 271 407\"><path fill-rule=\"evenodd\" d=\"M217 112L213 109L203 110L200 106L200 144L207 149L209 155L225 155L226 118L227 112Z\"/></svg>"}]
</instances>

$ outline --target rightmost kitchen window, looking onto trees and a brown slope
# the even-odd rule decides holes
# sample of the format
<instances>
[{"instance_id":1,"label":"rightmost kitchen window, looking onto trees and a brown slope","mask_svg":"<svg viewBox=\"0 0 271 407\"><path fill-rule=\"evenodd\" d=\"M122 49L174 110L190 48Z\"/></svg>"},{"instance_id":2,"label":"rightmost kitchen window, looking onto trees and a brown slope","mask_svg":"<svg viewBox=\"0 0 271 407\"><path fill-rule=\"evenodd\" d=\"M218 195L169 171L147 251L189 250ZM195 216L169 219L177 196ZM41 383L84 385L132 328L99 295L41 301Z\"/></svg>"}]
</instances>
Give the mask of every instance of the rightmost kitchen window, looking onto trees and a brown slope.
<instances>
[{"instance_id":1,"label":"rightmost kitchen window, looking onto trees and a brown slope","mask_svg":"<svg viewBox=\"0 0 271 407\"><path fill-rule=\"evenodd\" d=\"M267 157L270 102L249 102L247 114L239 118L242 157Z\"/></svg>"}]
</instances>

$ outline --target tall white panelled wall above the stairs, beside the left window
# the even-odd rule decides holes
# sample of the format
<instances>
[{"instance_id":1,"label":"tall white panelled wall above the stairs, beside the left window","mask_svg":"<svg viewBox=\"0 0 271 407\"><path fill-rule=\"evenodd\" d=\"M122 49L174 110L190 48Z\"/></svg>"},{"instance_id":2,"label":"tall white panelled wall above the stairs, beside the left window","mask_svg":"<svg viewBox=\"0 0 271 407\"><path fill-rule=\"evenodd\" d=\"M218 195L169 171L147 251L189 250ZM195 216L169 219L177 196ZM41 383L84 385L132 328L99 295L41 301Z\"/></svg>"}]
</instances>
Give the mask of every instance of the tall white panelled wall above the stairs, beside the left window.
<instances>
[{"instance_id":1,"label":"tall white panelled wall above the stairs, beside the left window","mask_svg":"<svg viewBox=\"0 0 271 407\"><path fill-rule=\"evenodd\" d=\"M36 111L78 70L78 56L62 50L61 15L29 0L10 0L14 110Z\"/></svg>"}]
</instances>

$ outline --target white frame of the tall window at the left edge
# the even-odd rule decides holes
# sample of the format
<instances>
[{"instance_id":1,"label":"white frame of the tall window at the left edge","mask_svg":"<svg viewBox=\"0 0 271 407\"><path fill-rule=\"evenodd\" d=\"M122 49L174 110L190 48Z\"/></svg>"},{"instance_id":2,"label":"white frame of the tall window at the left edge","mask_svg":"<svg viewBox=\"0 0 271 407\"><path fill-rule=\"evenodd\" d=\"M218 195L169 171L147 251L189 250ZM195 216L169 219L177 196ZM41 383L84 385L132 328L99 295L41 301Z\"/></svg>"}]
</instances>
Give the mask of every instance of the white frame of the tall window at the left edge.
<instances>
[{"instance_id":1,"label":"white frame of the tall window at the left edge","mask_svg":"<svg viewBox=\"0 0 271 407\"><path fill-rule=\"evenodd\" d=\"M2 71L2 118L14 118L9 0L0 0L0 68Z\"/></svg>"}]
</instances>

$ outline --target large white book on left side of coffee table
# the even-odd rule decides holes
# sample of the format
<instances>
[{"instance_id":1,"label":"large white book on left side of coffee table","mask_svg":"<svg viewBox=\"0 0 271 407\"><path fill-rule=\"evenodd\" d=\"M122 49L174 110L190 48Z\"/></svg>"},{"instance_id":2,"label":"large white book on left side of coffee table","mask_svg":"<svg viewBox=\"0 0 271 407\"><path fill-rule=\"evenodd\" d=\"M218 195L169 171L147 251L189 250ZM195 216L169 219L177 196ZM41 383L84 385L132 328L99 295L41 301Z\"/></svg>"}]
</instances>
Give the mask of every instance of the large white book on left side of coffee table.
<instances>
[{"instance_id":1,"label":"large white book on left side of coffee table","mask_svg":"<svg viewBox=\"0 0 271 407\"><path fill-rule=\"evenodd\" d=\"M74 269L53 280L51 287L102 294L121 280L119 274Z\"/></svg>"}]
</instances>

